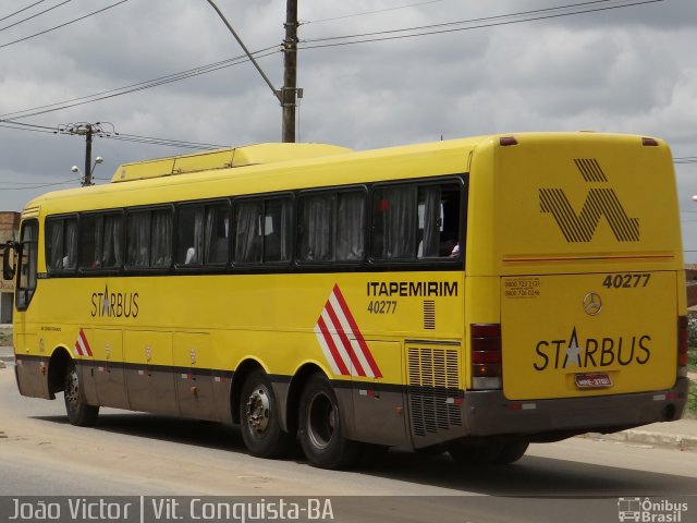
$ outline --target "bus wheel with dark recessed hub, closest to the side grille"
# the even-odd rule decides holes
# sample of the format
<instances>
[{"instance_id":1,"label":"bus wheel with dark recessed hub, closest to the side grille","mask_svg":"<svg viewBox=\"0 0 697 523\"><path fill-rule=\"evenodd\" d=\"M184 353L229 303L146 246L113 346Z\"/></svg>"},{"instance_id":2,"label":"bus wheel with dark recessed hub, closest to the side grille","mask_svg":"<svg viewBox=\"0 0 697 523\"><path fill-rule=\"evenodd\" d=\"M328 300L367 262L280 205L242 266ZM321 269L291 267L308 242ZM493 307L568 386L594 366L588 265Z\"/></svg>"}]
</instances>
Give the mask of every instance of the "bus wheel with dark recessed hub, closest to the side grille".
<instances>
[{"instance_id":1,"label":"bus wheel with dark recessed hub, closest to the side grille","mask_svg":"<svg viewBox=\"0 0 697 523\"><path fill-rule=\"evenodd\" d=\"M360 443L343 435L339 403L329 380L313 376L303 389L298 434L307 460L321 469L343 469L360 455Z\"/></svg>"}]
</instances>

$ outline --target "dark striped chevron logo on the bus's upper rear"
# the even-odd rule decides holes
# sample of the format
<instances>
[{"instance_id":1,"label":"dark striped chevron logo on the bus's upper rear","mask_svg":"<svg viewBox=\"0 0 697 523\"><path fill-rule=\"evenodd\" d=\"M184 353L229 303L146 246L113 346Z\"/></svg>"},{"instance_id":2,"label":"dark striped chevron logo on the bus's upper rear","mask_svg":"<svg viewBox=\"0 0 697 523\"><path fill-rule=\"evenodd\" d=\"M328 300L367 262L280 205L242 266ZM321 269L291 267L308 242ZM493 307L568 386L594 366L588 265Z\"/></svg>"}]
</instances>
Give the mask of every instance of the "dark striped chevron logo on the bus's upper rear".
<instances>
[{"instance_id":1,"label":"dark striped chevron logo on the bus's upper rear","mask_svg":"<svg viewBox=\"0 0 697 523\"><path fill-rule=\"evenodd\" d=\"M588 183L606 184L608 177L595 158L575 159ZM600 218L604 217L619 242L639 241L639 219L629 218L611 187L591 187L577 214L561 188L540 188L540 211L550 212L570 243L590 242Z\"/></svg>"}]
</instances>

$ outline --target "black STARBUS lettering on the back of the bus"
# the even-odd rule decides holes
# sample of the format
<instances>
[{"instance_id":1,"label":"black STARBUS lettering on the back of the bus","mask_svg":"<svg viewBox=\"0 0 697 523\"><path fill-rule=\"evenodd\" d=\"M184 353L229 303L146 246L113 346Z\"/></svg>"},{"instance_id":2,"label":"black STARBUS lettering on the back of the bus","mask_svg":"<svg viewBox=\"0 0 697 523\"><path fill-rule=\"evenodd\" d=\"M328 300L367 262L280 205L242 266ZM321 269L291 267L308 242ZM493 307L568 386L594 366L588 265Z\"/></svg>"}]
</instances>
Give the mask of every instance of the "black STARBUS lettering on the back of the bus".
<instances>
[{"instance_id":1,"label":"black STARBUS lettering on the back of the bus","mask_svg":"<svg viewBox=\"0 0 697 523\"><path fill-rule=\"evenodd\" d=\"M649 335L620 336L616 338L586 338L579 341L576 327L568 339L541 340L535 346L535 370L548 368L645 365L651 357Z\"/></svg>"}]
</instances>

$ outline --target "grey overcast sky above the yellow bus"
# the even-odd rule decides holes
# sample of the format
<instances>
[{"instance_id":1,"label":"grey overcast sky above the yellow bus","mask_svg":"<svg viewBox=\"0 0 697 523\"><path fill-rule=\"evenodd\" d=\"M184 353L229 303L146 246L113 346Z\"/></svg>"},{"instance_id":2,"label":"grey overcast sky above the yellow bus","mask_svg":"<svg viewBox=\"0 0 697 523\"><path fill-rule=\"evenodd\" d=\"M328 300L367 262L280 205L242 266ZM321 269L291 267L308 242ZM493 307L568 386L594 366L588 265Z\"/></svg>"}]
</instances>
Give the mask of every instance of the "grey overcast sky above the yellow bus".
<instances>
[{"instance_id":1,"label":"grey overcast sky above the yellow bus","mask_svg":"<svg viewBox=\"0 0 697 523\"><path fill-rule=\"evenodd\" d=\"M0 120L242 54L206 0L119 1L0 0ZM216 2L249 50L270 48L259 63L280 87L282 54L273 51L285 0ZM659 136L675 158L697 157L697 2L639 2L299 0L298 139L368 149L441 135L596 130ZM636 5L607 9L627 4ZM504 16L515 13L527 14ZM475 19L421 29L441 32L426 36L315 47ZM233 146L280 141L281 110L243 62L16 122L110 122L106 130L123 134ZM95 175L107 183L120 163L191 151L96 138L93 156L105 162ZM49 188L28 185L76 186L71 167L83 168L84 153L80 136L0 127L0 210L21 210ZM697 262L697 163L675 169L686 260Z\"/></svg>"}]
</instances>

